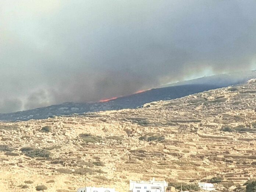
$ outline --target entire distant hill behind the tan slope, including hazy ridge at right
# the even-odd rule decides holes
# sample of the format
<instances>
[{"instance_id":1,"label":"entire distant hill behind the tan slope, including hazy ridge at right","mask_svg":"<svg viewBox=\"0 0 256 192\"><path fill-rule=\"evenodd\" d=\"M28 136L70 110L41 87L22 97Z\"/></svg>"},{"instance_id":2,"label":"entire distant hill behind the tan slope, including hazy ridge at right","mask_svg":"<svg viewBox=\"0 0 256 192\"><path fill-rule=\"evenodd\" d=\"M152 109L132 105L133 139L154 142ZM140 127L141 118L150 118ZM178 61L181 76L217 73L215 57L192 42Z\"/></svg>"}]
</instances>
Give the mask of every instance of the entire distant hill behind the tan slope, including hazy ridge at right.
<instances>
[{"instance_id":1,"label":"entire distant hill behind the tan slope, including hazy ridge at right","mask_svg":"<svg viewBox=\"0 0 256 192\"><path fill-rule=\"evenodd\" d=\"M159 100L170 100L210 89L222 88L244 83L256 78L256 71L237 72L230 74L213 75L189 81L182 81L166 85L166 87L147 90L129 96L119 97L108 102L73 103L67 102L33 110L15 113L0 114L2 121L27 121L30 119L44 119L51 116L71 115L74 113L88 113L106 110L135 109L145 103Z\"/></svg>"}]
</instances>

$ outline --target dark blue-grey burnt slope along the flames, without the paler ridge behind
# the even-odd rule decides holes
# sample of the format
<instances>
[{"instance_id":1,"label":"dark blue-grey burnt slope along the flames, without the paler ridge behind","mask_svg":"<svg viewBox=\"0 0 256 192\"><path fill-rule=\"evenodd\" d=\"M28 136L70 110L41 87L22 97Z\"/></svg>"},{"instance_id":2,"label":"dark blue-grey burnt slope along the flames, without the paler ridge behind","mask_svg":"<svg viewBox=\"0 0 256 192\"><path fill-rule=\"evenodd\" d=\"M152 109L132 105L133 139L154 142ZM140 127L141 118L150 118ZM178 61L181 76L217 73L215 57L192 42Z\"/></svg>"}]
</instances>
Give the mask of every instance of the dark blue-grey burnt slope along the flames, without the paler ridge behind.
<instances>
[{"instance_id":1,"label":"dark blue-grey burnt slope along the flames, without the paler ridge behind","mask_svg":"<svg viewBox=\"0 0 256 192\"><path fill-rule=\"evenodd\" d=\"M167 88L158 88L148 90L143 93L137 93L125 97L120 97L109 102L96 103L63 103L33 110L19 111L9 114L0 114L0 120L3 121L27 121L30 119L44 119L53 115L70 115L73 113L87 113L105 110L134 109L141 107L145 103L170 100L193 93L199 93L205 90L216 89L216 85L181 85Z\"/></svg>"}]
</instances>

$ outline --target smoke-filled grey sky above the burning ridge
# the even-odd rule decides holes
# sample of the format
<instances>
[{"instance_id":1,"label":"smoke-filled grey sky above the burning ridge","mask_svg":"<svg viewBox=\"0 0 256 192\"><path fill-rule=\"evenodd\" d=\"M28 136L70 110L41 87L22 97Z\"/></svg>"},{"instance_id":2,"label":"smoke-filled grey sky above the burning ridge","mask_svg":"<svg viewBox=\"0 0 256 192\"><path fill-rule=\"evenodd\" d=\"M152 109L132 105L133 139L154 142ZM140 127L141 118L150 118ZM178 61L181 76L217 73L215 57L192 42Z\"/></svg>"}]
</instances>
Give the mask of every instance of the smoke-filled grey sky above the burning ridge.
<instances>
[{"instance_id":1,"label":"smoke-filled grey sky above the burning ridge","mask_svg":"<svg viewBox=\"0 0 256 192\"><path fill-rule=\"evenodd\" d=\"M0 113L256 68L255 0L1 0Z\"/></svg>"}]
</instances>

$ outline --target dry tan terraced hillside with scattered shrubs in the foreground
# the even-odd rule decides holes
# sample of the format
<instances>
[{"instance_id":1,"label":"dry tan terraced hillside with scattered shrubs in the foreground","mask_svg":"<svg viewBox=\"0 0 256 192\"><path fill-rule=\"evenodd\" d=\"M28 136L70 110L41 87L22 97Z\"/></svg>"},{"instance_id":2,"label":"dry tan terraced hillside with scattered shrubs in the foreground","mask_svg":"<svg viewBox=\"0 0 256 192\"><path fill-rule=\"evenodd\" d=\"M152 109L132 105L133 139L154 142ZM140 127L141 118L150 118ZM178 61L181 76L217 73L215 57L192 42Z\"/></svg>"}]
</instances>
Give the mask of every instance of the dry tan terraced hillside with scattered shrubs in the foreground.
<instances>
[{"instance_id":1,"label":"dry tan terraced hillside with scattered shrubs in the foreground","mask_svg":"<svg viewBox=\"0 0 256 192\"><path fill-rule=\"evenodd\" d=\"M0 123L0 191L127 191L129 179L215 176L218 190L244 191L256 175L255 110L250 82L139 109Z\"/></svg>"}]
</instances>

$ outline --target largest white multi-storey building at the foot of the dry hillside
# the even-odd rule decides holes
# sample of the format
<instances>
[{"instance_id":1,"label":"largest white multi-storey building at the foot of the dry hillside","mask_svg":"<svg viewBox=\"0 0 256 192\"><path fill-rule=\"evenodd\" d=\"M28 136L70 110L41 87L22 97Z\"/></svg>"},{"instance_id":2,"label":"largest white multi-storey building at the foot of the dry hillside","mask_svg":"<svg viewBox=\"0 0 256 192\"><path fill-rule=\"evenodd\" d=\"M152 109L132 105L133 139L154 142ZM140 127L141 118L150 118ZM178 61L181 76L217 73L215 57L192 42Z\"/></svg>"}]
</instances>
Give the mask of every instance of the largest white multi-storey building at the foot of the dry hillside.
<instances>
[{"instance_id":1,"label":"largest white multi-storey building at the foot of the dry hillside","mask_svg":"<svg viewBox=\"0 0 256 192\"><path fill-rule=\"evenodd\" d=\"M132 181L130 180L130 192L165 192L168 183L166 181Z\"/></svg>"}]
</instances>

